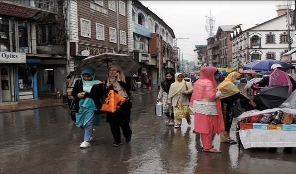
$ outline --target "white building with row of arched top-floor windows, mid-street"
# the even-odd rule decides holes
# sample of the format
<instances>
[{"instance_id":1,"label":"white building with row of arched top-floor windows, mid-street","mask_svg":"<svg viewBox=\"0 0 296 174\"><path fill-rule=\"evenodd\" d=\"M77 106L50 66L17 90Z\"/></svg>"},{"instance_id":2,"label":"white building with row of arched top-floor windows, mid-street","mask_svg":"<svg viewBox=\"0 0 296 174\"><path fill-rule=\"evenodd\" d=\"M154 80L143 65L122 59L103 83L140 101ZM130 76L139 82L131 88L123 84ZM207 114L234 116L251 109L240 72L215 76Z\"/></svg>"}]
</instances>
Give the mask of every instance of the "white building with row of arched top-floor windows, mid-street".
<instances>
[{"instance_id":1,"label":"white building with row of arched top-floor windows, mid-street","mask_svg":"<svg viewBox=\"0 0 296 174\"><path fill-rule=\"evenodd\" d=\"M132 2L134 57L142 65L139 74L151 76L152 84L156 85L159 79L159 58L162 77L166 71L175 71L175 34L171 27L140 1Z\"/></svg>"}]
</instances>

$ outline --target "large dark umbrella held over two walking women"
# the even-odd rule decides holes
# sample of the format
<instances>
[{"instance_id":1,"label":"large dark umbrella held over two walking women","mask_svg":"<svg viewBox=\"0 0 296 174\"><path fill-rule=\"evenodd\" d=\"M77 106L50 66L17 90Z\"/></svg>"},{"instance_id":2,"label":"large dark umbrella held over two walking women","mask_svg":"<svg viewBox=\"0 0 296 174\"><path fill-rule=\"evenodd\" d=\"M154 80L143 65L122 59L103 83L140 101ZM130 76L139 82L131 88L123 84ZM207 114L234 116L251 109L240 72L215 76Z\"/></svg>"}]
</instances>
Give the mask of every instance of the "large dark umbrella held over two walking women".
<instances>
[{"instance_id":1,"label":"large dark umbrella held over two walking women","mask_svg":"<svg viewBox=\"0 0 296 174\"><path fill-rule=\"evenodd\" d=\"M95 71L96 79L107 80L109 65L117 64L121 67L125 76L136 74L141 67L135 60L126 54L102 53L96 56L87 57L82 60L80 70L89 68Z\"/></svg>"}]
</instances>

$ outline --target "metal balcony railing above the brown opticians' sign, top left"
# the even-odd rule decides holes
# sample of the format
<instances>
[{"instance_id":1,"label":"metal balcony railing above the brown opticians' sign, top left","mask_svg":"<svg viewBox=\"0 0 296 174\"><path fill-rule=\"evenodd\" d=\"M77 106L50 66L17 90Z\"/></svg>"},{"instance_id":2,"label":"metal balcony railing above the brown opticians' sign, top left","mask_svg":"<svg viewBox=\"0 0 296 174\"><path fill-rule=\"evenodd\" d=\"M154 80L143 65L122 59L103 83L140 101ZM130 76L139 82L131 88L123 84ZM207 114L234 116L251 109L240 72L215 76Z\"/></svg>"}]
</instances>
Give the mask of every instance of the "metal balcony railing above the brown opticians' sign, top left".
<instances>
[{"instance_id":1,"label":"metal balcony railing above the brown opticians' sign, top left","mask_svg":"<svg viewBox=\"0 0 296 174\"><path fill-rule=\"evenodd\" d=\"M13 3L27 5L42 10L57 13L58 12L58 0L7 0Z\"/></svg>"}]
</instances>

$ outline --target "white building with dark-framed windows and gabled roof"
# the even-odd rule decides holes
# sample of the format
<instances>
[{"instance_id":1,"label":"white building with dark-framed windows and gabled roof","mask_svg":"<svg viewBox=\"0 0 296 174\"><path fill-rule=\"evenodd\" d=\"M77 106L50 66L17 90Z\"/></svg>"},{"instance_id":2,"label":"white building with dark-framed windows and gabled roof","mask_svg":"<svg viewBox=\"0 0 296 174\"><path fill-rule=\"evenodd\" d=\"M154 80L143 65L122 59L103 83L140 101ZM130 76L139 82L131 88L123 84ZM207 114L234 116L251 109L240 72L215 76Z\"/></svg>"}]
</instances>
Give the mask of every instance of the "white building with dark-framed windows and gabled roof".
<instances>
[{"instance_id":1,"label":"white building with dark-framed windows and gabled roof","mask_svg":"<svg viewBox=\"0 0 296 174\"><path fill-rule=\"evenodd\" d=\"M279 9L278 16L256 25L239 24L233 27L232 61L240 60L243 64L265 59L280 60L288 51L287 9ZM290 13L292 39L295 37L295 20ZM296 40L295 40L296 41ZM293 41L291 48L296 47Z\"/></svg>"}]
</instances>

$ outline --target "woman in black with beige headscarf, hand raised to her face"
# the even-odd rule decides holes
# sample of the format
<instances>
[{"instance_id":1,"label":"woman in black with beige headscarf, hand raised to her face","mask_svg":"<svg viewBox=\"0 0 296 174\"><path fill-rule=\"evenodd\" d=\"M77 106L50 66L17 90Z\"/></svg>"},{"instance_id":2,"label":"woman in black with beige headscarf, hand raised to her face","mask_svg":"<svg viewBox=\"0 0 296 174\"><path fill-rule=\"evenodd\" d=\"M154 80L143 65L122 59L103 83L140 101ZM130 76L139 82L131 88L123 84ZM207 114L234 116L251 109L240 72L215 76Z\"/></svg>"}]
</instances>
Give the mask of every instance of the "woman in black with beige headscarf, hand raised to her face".
<instances>
[{"instance_id":1,"label":"woman in black with beige headscarf, hand raised to her face","mask_svg":"<svg viewBox=\"0 0 296 174\"><path fill-rule=\"evenodd\" d=\"M107 112L107 122L110 124L110 129L114 138L112 146L118 147L121 145L120 128L125 137L125 142L131 140L132 131L129 127L130 109L132 107L130 101L131 83L123 74L123 71L118 65L112 65L108 68L109 82L106 84L106 92L114 90L119 95L125 97L127 100L114 113ZM107 93L106 93L107 94Z\"/></svg>"}]
</instances>

